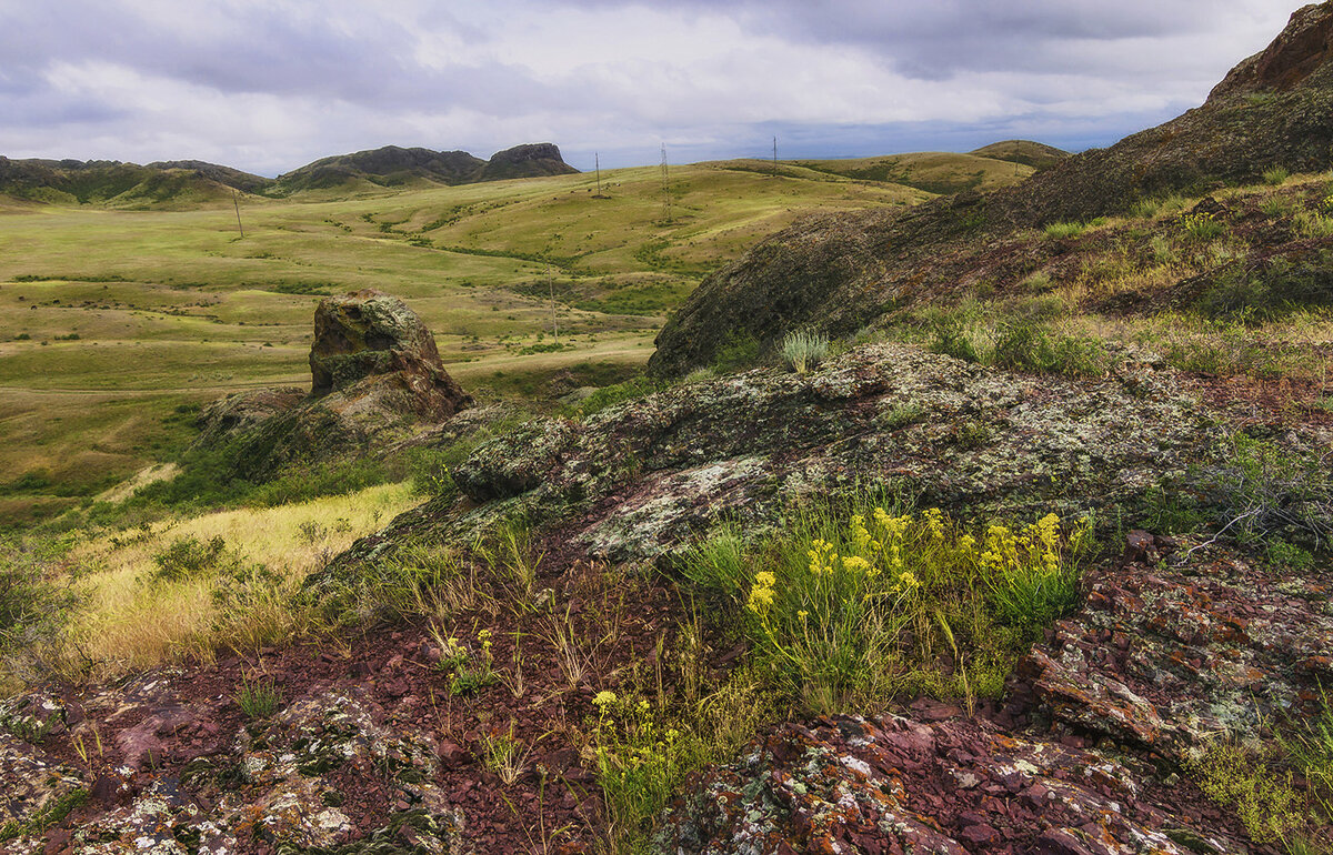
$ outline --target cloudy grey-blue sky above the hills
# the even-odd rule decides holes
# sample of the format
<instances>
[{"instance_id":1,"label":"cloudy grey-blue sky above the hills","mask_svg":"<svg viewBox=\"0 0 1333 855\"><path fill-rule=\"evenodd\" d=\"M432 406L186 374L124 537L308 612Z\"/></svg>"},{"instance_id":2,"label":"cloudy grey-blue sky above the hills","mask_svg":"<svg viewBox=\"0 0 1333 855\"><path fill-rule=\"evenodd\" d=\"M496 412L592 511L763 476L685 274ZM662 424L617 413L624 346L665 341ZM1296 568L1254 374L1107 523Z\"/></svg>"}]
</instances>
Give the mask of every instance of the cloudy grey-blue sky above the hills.
<instances>
[{"instance_id":1,"label":"cloudy grey-blue sky above the hills","mask_svg":"<svg viewBox=\"0 0 1333 855\"><path fill-rule=\"evenodd\" d=\"M1106 145L1200 104L1280 0L0 0L0 154L277 174L553 141L591 168Z\"/></svg>"}]
</instances>

